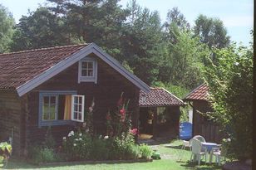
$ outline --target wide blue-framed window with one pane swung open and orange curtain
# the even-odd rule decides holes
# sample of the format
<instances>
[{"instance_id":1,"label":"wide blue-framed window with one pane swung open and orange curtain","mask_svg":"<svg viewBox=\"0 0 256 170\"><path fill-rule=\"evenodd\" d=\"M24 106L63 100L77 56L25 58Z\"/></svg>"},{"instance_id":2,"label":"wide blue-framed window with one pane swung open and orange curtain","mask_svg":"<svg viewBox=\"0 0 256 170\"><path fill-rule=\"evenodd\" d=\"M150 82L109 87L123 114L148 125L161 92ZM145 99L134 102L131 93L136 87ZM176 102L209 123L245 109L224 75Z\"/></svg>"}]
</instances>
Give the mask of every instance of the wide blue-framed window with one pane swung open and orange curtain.
<instances>
[{"instance_id":1,"label":"wide blue-framed window with one pane swung open and orange curtain","mask_svg":"<svg viewBox=\"0 0 256 170\"><path fill-rule=\"evenodd\" d=\"M41 91L38 125L62 125L84 122L85 96L76 91Z\"/></svg>"}]
</instances>

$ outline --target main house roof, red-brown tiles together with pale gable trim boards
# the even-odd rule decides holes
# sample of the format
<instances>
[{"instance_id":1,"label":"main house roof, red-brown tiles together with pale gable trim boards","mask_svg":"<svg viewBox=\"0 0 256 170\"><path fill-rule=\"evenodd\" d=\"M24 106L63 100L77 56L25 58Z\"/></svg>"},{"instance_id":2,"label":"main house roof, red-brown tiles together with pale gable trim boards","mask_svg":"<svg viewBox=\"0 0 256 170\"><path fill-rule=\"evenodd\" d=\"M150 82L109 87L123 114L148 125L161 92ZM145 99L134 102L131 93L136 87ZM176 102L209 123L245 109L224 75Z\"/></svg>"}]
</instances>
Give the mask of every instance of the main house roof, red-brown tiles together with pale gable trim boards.
<instances>
[{"instance_id":1,"label":"main house roof, red-brown tiles together with pale gable trim boards","mask_svg":"<svg viewBox=\"0 0 256 170\"><path fill-rule=\"evenodd\" d=\"M17 90L18 95L24 95L91 53L99 56L140 90L150 90L148 85L95 43L0 54L0 90Z\"/></svg>"}]
</instances>

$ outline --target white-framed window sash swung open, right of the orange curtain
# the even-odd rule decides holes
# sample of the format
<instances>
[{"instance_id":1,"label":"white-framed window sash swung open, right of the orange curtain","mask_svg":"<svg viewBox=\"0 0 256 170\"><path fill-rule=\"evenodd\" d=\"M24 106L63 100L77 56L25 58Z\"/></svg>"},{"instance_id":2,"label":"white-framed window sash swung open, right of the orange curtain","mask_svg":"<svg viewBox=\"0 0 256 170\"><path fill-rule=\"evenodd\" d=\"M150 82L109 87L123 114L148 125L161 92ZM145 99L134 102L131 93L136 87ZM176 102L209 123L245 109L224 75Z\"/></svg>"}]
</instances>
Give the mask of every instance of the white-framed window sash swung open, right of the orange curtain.
<instances>
[{"instance_id":1,"label":"white-framed window sash swung open, right of the orange curtain","mask_svg":"<svg viewBox=\"0 0 256 170\"><path fill-rule=\"evenodd\" d=\"M85 96L84 95L72 95L71 100L71 120L77 122L84 121L84 106Z\"/></svg>"}]
</instances>

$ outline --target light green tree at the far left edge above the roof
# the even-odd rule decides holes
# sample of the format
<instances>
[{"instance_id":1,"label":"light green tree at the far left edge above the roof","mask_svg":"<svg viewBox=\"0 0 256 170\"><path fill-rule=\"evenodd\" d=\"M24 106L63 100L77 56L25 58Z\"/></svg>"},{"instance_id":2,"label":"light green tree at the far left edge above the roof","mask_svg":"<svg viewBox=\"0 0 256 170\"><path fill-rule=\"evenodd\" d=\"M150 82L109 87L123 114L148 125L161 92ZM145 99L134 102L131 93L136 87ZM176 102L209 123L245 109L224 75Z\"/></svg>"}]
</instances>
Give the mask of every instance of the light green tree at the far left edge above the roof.
<instances>
[{"instance_id":1,"label":"light green tree at the far left edge above the roof","mask_svg":"<svg viewBox=\"0 0 256 170\"><path fill-rule=\"evenodd\" d=\"M14 24L12 14L0 4L0 53L9 51Z\"/></svg>"}]
</instances>

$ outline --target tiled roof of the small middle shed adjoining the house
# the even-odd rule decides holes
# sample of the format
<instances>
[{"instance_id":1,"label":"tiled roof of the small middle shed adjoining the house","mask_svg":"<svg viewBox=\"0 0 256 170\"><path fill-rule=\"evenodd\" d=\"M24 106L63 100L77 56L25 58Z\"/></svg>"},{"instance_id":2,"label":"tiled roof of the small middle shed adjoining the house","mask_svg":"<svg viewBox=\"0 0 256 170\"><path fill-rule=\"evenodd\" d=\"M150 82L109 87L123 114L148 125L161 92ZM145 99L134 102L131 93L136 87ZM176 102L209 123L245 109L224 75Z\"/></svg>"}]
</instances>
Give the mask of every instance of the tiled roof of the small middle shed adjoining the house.
<instances>
[{"instance_id":1,"label":"tiled roof of the small middle shed adjoining the house","mask_svg":"<svg viewBox=\"0 0 256 170\"><path fill-rule=\"evenodd\" d=\"M150 88L150 93L140 90L140 107L184 105L183 101L164 88Z\"/></svg>"}]
</instances>

